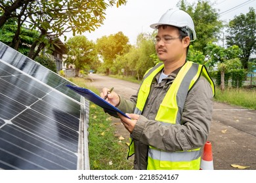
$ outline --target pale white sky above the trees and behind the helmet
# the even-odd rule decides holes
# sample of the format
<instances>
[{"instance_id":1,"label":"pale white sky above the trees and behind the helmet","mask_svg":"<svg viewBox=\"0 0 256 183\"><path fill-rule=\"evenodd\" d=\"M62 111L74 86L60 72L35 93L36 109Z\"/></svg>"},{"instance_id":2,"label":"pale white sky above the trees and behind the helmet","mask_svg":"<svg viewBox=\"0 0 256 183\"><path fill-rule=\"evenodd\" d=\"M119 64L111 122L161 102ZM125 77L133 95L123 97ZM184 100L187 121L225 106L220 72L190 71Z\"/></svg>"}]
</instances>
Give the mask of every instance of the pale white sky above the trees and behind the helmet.
<instances>
[{"instance_id":1,"label":"pale white sky above the trees and behind the helmet","mask_svg":"<svg viewBox=\"0 0 256 183\"><path fill-rule=\"evenodd\" d=\"M220 19L228 22L234 16L246 14L249 7L256 8L256 0L209 0L215 3L213 8L218 9ZM123 32L129 38L130 44L136 44L137 36L140 33L152 33L154 29L151 24L157 23L161 15L169 8L177 8L179 0L127 0L126 5L119 8L108 7L106 10L106 20L104 25L98 27L91 33L83 33L90 41L106 35ZM186 0L188 3L197 2L196 0ZM72 33L66 34L68 38Z\"/></svg>"}]
</instances>

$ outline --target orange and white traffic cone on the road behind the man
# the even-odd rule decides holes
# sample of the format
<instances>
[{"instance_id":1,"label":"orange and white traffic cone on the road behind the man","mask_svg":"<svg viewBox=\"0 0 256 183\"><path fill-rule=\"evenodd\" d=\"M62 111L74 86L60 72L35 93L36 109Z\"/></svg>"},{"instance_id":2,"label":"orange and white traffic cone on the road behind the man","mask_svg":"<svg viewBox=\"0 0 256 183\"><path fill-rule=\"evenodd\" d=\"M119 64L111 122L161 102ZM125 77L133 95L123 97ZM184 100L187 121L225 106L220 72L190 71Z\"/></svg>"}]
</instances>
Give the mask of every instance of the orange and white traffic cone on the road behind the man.
<instances>
[{"instance_id":1,"label":"orange and white traffic cone on the road behind the man","mask_svg":"<svg viewBox=\"0 0 256 183\"><path fill-rule=\"evenodd\" d=\"M211 152L211 142L206 141L203 148L200 170L213 170L213 153Z\"/></svg>"}]
</instances>

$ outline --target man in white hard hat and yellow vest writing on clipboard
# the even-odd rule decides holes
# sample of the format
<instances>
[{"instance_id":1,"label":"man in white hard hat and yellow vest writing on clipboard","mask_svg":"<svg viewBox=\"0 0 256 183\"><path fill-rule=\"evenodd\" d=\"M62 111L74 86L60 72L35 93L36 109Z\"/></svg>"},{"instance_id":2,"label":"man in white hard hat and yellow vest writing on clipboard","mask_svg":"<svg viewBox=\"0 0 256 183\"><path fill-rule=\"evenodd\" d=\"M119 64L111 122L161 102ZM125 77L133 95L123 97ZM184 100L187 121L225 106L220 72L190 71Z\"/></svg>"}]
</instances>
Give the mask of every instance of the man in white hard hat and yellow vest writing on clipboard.
<instances>
[{"instance_id":1,"label":"man in white hard hat and yellow vest writing on clipboard","mask_svg":"<svg viewBox=\"0 0 256 183\"><path fill-rule=\"evenodd\" d=\"M162 61L144 75L130 100L103 88L102 97L123 112L131 133L129 156L135 169L200 169L201 150L211 124L214 84L205 67L186 61L194 22L182 10L167 10L157 24L156 52Z\"/></svg>"}]
</instances>

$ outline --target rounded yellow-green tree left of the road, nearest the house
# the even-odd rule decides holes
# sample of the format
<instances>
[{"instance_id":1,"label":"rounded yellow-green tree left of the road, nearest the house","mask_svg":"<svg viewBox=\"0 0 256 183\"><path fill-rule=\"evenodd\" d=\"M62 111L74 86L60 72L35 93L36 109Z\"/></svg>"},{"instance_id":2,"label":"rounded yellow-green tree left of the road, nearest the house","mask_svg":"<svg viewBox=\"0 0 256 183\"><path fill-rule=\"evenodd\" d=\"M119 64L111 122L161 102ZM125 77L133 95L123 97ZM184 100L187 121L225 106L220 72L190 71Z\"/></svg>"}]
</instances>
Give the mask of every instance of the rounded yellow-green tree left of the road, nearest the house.
<instances>
[{"instance_id":1,"label":"rounded yellow-green tree left of the road, nearest the house","mask_svg":"<svg viewBox=\"0 0 256 183\"><path fill-rule=\"evenodd\" d=\"M81 69L89 70L91 65L98 61L95 44L85 36L75 36L66 42L68 58L66 63L75 65L75 76Z\"/></svg>"}]
</instances>

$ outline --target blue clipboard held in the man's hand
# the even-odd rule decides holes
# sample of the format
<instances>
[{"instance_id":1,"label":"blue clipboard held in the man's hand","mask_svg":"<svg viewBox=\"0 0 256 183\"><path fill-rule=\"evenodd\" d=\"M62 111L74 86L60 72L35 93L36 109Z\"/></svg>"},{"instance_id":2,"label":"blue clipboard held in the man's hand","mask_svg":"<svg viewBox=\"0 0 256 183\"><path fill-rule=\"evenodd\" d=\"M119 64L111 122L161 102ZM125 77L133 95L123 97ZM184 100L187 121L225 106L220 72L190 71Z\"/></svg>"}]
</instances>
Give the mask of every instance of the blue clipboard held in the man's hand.
<instances>
[{"instance_id":1,"label":"blue clipboard held in the man's hand","mask_svg":"<svg viewBox=\"0 0 256 183\"><path fill-rule=\"evenodd\" d=\"M106 108L108 110L111 110L112 112L119 112L120 114L122 114L123 116L131 119L129 116L127 116L124 112L122 112L121 110L119 110L118 108L114 107L114 105L111 105L110 103L108 103L107 101L105 101L104 99L102 99L102 97L98 96L96 93L92 92L89 89L86 88L81 88L78 86L71 86L71 85L66 85L68 88L74 90L75 92L79 93L80 95L82 95L83 97L85 97L85 99L88 99L89 101L95 103L96 105L98 105L99 107L102 108Z\"/></svg>"}]
</instances>

